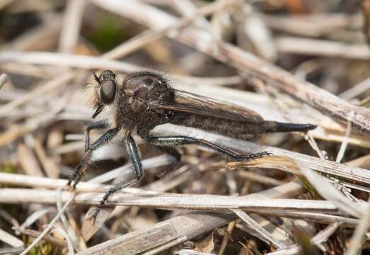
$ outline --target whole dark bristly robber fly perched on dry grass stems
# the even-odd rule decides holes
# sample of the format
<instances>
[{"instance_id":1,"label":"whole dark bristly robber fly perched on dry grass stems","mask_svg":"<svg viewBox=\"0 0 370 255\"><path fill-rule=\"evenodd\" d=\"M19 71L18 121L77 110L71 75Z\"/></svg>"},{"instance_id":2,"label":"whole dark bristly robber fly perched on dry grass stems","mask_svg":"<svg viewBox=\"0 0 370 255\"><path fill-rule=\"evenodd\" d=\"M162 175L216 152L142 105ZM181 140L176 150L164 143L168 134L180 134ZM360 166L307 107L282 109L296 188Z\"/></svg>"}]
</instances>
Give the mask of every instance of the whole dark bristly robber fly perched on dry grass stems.
<instances>
[{"instance_id":1,"label":"whole dark bristly robber fly perched on dry grass stems","mask_svg":"<svg viewBox=\"0 0 370 255\"><path fill-rule=\"evenodd\" d=\"M69 179L68 185L75 188L91 163L92 152L119 134L125 142L136 179L112 186L93 213L93 218L98 215L112 193L139 181L143 176L139 148L132 138L134 133L175 157L176 162L180 162L181 155L175 146L192 144L208 147L235 160L248 161L269 153L239 154L207 140L185 135L157 137L151 135L150 131L157 125L172 123L250 140L264 133L307 131L316 128L310 124L263 120L258 113L247 108L173 89L166 77L155 72L135 72L127 75L122 82L117 81L115 74L110 70L103 71L99 77L94 74L94 77L96 82L92 84L91 89L91 102L95 109L93 118L96 118L104 108L107 108L109 116L87 126L85 154ZM90 146L90 130L103 128L108 128L108 131Z\"/></svg>"}]
</instances>

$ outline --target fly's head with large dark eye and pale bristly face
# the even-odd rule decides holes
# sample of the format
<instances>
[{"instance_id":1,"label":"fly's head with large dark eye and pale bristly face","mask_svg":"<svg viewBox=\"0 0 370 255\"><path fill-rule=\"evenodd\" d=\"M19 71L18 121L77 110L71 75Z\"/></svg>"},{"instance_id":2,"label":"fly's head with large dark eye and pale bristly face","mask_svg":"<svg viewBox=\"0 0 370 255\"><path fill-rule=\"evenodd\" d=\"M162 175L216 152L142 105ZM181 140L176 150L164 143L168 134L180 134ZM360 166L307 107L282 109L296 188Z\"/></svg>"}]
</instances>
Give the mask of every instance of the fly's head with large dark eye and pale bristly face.
<instances>
[{"instance_id":1,"label":"fly's head with large dark eye and pale bristly face","mask_svg":"<svg viewBox=\"0 0 370 255\"><path fill-rule=\"evenodd\" d=\"M89 91L91 106L95 109L93 118L96 118L105 106L110 106L115 101L117 80L115 73L110 70L101 72L99 77L94 74L94 78L97 82L91 84Z\"/></svg>"}]
</instances>

